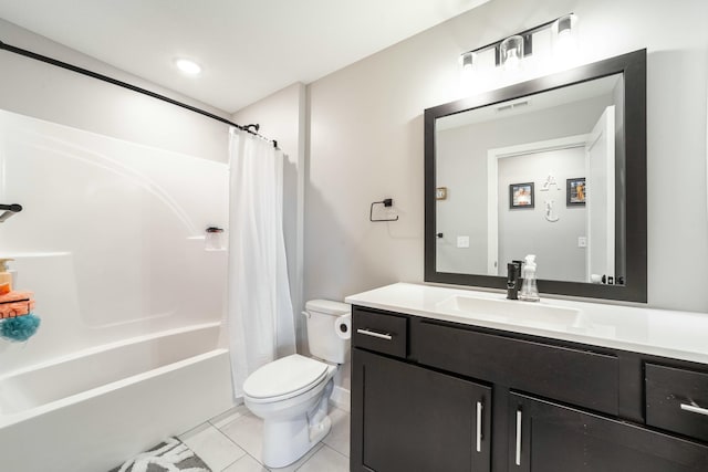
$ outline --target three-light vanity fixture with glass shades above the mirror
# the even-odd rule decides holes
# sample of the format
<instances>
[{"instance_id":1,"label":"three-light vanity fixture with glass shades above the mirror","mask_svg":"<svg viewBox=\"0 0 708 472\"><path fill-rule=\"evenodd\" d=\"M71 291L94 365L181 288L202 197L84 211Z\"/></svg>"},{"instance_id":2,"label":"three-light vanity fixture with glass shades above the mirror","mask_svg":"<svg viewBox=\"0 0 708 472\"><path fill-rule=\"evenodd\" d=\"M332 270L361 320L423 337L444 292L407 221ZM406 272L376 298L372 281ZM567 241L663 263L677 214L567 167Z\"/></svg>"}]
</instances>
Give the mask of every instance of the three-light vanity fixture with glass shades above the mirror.
<instances>
[{"instance_id":1,"label":"three-light vanity fixture with glass shades above the mirror","mask_svg":"<svg viewBox=\"0 0 708 472\"><path fill-rule=\"evenodd\" d=\"M476 50L464 52L460 54L462 74L464 76L471 75L478 67L479 56L485 53L491 54L492 51L494 54L494 65L497 67L502 66L504 71L521 69L523 59L533 54L533 40L537 33L546 30L551 32L553 50L556 52L556 55L568 56L570 51L574 52L577 43L576 23L576 14L565 14L509 38L494 41ZM545 38L548 38L548 34Z\"/></svg>"}]
</instances>

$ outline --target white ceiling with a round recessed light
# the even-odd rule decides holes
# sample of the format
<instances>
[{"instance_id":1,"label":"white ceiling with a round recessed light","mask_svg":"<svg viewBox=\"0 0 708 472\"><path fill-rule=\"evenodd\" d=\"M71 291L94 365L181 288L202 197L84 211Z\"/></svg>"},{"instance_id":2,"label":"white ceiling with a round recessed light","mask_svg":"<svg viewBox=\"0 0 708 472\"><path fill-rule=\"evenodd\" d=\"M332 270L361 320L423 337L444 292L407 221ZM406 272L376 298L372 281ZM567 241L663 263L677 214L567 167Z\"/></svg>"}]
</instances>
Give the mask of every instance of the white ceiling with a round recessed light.
<instances>
[{"instance_id":1,"label":"white ceiling with a round recessed light","mask_svg":"<svg viewBox=\"0 0 708 472\"><path fill-rule=\"evenodd\" d=\"M0 18L232 113L487 1L0 0Z\"/></svg>"}]
</instances>

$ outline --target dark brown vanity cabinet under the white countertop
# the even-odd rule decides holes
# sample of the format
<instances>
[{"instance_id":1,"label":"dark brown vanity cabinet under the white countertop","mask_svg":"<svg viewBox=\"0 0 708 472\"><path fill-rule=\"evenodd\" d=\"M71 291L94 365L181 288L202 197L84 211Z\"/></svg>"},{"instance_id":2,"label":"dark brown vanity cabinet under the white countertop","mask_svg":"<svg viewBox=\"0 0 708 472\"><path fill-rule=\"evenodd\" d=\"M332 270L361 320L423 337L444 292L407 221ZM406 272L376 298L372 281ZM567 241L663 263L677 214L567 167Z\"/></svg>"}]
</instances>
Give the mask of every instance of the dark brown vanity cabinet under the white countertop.
<instances>
[{"instance_id":1,"label":"dark brown vanity cabinet under the white countertop","mask_svg":"<svg viewBox=\"0 0 708 472\"><path fill-rule=\"evenodd\" d=\"M361 306L352 323L352 472L708 471L708 416L680 407L708 406L706 366Z\"/></svg>"}]
</instances>

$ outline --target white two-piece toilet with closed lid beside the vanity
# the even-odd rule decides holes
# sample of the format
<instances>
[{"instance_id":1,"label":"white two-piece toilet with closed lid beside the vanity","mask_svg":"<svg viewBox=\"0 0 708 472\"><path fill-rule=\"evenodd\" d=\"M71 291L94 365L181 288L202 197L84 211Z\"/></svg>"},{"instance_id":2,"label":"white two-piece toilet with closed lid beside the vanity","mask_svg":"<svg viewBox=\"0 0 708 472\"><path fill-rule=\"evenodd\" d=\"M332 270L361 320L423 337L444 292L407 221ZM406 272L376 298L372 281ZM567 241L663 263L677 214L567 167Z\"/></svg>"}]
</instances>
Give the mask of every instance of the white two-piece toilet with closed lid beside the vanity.
<instances>
[{"instance_id":1,"label":"white two-piece toilet with closed lid beside the vanity","mask_svg":"<svg viewBox=\"0 0 708 472\"><path fill-rule=\"evenodd\" d=\"M336 334L350 305L327 300L306 303L308 342L313 357L293 354L269 363L243 382L243 401L263 419L262 461L283 468L324 438L332 422L327 401L334 374L344 363L348 342Z\"/></svg>"}]
</instances>

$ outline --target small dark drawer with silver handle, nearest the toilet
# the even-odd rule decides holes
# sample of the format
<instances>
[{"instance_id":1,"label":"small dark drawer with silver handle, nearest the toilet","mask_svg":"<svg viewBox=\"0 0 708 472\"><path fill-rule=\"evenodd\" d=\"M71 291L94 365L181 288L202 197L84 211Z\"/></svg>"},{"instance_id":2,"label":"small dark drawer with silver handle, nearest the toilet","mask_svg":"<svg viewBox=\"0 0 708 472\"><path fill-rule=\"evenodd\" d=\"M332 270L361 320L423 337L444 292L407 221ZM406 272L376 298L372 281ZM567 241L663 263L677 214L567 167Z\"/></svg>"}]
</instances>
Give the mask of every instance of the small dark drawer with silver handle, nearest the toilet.
<instances>
[{"instance_id":1,"label":"small dark drawer with silver handle, nearest the toilet","mask_svg":"<svg viewBox=\"0 0 708 472\"><path fill-rule=\"evenodd\" d=\"M352 311L352 346L391 356L406 357L408 318L405 316Z\"/></svg>"}]
</instances>

